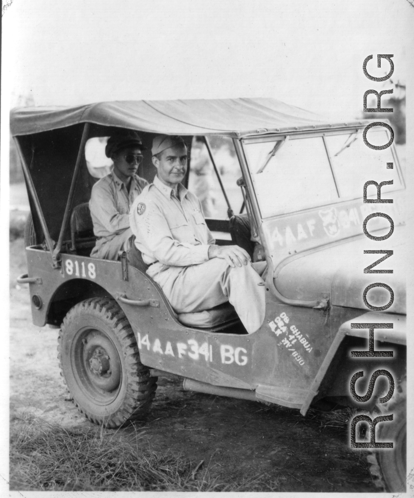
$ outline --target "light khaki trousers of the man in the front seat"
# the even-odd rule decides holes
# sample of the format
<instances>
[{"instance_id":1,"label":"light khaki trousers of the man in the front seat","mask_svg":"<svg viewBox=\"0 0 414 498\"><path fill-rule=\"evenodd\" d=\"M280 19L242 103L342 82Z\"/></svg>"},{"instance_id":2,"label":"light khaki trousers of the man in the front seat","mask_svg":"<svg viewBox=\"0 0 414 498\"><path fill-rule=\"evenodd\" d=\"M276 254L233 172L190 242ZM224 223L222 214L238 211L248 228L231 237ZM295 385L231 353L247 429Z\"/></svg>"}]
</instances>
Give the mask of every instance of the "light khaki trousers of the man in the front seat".
<instances>
[{"instance_id":1,"label":"light khaki trousers of the man in the front seat","mask_svg":"<svg viewBox=\"0 0 414 498\"><path fill-rule=\"evenodd\" d=\"M151 276L177 313L203 311L229 301L251 334L264 320L265 285L260 275L265 267L265 262L258 262L233 268L225 259L213 258L192 266L169 266Z\"/></svg>"}]
</instances>

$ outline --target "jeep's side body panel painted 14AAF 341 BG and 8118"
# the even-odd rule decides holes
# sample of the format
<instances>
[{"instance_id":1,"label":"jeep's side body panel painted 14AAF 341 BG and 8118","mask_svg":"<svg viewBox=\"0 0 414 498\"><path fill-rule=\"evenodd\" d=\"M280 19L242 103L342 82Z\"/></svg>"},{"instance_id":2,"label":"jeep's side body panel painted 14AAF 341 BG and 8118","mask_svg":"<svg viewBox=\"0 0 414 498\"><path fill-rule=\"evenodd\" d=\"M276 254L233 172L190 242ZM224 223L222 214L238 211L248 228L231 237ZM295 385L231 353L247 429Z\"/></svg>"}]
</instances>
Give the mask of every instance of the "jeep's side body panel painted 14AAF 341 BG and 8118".
<instances>
[{"instance_id":1,"label":"jeep's side body panel painted 14AAF 341 BG and 8118","mask_svg":"<svg viewBox=\"0 0 414 498\"><path fill-rule=\"evenodd\" d=\"M137 307L118 301L144 365L213 385L255 390L259 399L294 408L302 408L308 398L316 396L322 380L316 379L324 362L346 335L344 322L360 315L358 309L337 306L322 312L275 303L267 292L266 318L257 332L212 333L180 324L159 286L130 265L128 280L123 280L119 261L62 254L62 270L51 271L46 251L28 248L27 255L29 276L42 280L42 284L30 285L31 296L39 296L44 303L37 309L32 300L36 325L59 325L73 302L88 297L152 299L159 306ZM300 332L290 345L272 330L271 323L280 315L288 320L286 326Z\"/></svg>"}]
</instances>

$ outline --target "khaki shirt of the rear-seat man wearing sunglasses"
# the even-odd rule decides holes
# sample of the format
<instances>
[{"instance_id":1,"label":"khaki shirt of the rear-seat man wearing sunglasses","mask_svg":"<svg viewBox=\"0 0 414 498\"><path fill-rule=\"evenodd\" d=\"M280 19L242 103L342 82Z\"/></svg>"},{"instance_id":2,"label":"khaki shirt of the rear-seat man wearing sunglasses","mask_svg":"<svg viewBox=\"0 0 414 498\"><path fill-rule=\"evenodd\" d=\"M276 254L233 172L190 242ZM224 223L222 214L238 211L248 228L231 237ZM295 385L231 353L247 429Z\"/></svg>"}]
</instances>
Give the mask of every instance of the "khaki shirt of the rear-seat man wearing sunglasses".
<instances>
[{"instance_id":1,"label":"khaki shirt of the rear-seat man wearing sunglasses","mask_svg":"<svg viewBox=\"0 0 414 498\"><path fill-rule=\"evenodd\" d=\"M128 193L113 171L93 185L89 209L96 237L111 240L129 228L129 209L146 185L147 180L134 175Z\"/></svg>"}]
</instances>

